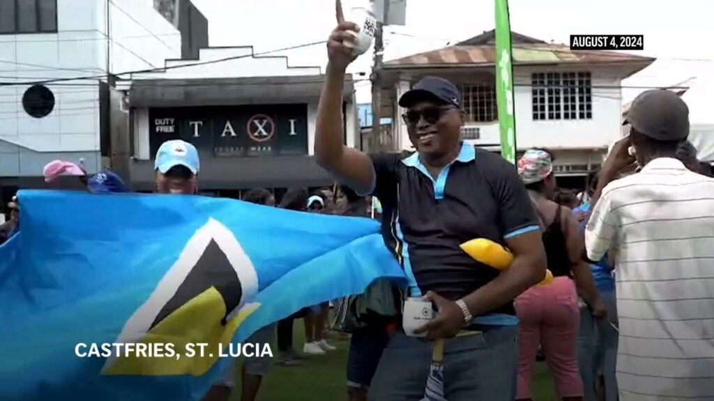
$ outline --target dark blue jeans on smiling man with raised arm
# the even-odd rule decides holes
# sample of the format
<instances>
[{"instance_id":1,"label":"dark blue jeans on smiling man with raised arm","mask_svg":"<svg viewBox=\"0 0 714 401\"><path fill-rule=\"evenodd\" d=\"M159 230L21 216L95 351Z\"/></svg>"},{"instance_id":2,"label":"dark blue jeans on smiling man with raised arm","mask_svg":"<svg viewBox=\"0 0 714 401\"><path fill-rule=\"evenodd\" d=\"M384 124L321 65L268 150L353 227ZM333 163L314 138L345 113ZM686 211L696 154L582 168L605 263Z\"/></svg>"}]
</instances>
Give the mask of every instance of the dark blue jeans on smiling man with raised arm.
<instances>
[{"instance_id":1,"label":"dark blue jeans on smiling man with raised arm","mask_svg":"<svg viewBox=\"0 0 714 401\"><path fill-rule=\"evenodd\" d=\"M424 396L431 343L398 331L384 350L368 400L415 401ZM484 327L483 333L444 343L444 392L449 401L513 401L518 375L518 326Z\"/></svg>"}]
</instances>

